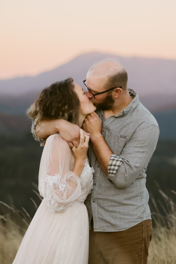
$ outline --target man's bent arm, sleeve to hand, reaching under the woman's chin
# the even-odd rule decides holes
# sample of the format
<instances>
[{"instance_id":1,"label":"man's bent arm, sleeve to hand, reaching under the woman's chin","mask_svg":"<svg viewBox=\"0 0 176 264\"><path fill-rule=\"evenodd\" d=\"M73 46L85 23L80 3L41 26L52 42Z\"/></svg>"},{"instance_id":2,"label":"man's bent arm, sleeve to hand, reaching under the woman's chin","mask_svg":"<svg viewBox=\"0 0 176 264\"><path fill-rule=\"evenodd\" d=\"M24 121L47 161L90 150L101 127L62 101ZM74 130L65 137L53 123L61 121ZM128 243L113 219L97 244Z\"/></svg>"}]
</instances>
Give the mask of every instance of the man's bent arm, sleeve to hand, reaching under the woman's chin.
<instances>
[{"instance_id":1,"label":"man's bent arm, sleeve to hand, reaching under the woman's chin","mask_svg":"<svg viewBox=\"0 0 176 264\"><path fill-rule=\"evenodd\" d=\"M98 116L89 116L83 128L91 133L92 146L103 171L118 188L125 188L147 167L156 148L159 128L148 125L136 130L117 156L100 135L100 121Z\"/></svg>"}]
</instances>

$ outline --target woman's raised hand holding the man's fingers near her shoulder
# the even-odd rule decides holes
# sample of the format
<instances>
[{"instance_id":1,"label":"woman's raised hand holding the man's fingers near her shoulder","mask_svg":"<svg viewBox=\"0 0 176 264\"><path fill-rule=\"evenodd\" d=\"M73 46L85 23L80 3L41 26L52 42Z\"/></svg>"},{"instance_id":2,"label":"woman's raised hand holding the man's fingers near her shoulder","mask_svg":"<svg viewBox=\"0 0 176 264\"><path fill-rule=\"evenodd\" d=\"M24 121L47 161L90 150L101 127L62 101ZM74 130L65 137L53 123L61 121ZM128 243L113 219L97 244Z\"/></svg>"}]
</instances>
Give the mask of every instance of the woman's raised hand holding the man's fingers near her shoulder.
<instances>
[{"instance_id":1,"label":"woman's raised hand holding the man's fingers near her shoulder","mask_svg":"<svg viewBox=\"0 0 176 264\"><path fill-rule=\"evenodd\" d=\"M85 141L84 141L85 137ZM72 151L73 155L75 157L76 162L84 162L85 163L85 157L87 154L87 149L89 146L89 136L84 135L83 130L80 129L80 141L79 141L79 146L76 148L73 146Z\"/></svg>"}]
</instances>

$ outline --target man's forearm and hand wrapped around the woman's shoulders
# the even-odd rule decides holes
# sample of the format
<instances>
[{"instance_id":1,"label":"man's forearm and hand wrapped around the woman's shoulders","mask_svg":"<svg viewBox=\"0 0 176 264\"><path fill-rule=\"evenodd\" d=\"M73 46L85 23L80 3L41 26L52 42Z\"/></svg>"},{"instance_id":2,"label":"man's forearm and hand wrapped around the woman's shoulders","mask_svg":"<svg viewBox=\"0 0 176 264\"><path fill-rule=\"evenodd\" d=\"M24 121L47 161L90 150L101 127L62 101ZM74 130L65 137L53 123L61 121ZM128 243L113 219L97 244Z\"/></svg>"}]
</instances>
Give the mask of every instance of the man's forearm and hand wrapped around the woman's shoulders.
<instances>
[{"instance_id":1,"label":"man's forearm and hand wrapped around the woman's shoulders","mask_svg":"<svg viewBox=\"0 0 176 264\"><path fill-rule=\"evenodd\" d=\"M38 132L36 132L38 131ZM89 133L83 131L84 134L89 136ZM32 134L35 140L44 141L48 136L60 133L61 137L65 139L69 147L73 145L77 148L80 139L80 127L72 124L64 119L48 119L41 121L41 128L38 125L35 127L35 121L32 125Z\"/></svg>"}]
</instances>

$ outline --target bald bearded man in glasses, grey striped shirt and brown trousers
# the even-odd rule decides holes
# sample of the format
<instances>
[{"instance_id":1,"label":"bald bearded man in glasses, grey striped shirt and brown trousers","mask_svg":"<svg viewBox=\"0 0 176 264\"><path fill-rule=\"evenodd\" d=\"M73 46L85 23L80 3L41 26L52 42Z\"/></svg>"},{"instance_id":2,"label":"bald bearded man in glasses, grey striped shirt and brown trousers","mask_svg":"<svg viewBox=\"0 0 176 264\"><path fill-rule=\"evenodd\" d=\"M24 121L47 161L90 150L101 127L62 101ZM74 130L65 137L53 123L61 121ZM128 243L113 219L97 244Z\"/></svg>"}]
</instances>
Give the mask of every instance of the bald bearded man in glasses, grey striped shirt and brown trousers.
<instances>
[{"instance_id":1,"label":"bald bearded man in glasses, grey striped shirt and brown trousers","mask_svg":"<svg viewBox=\"0 0 176 264\"><path fill-rule=\"evenodd\" d=\"M90 133L88 158L95 170L85 201L93 226L89 264L147 263L152 227L145 171L156 148L158 124L137 93L127 89L126 70L116 60L94 64L84 84L97 106L83 124ZM78 128L65 120L42 123L38 136L58 131L70 147L78 145Z\"/></svg>"}]
</instances>

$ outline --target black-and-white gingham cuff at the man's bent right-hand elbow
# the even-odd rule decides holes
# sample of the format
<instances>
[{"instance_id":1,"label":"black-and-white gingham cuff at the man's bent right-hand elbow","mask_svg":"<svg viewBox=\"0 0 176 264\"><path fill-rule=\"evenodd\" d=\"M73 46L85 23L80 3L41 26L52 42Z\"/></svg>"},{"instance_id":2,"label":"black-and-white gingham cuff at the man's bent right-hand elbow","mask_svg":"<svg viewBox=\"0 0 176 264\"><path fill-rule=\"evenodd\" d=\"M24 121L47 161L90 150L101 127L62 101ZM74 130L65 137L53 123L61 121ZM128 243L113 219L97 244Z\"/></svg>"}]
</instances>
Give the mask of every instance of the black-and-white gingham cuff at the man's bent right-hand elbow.
<instances>
[{"instance_id":1,"label":"black-and-white gingham cuff at the man's bent right-hand elbow","mask_svg":"<svg viewBox=\"0 0 176 264\"><path fill-rule=\"evenodd\" d=\"M116 172L120 165L122 164L123 160L121 157L116 156L115 154L112 154L110 157L110 161L108 164L108 178L110 180L115 179Z\"/></svg>"}]
</instances>

